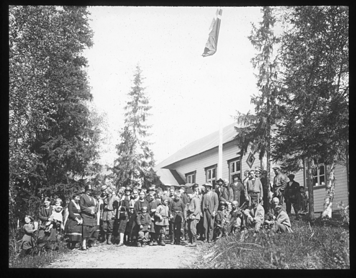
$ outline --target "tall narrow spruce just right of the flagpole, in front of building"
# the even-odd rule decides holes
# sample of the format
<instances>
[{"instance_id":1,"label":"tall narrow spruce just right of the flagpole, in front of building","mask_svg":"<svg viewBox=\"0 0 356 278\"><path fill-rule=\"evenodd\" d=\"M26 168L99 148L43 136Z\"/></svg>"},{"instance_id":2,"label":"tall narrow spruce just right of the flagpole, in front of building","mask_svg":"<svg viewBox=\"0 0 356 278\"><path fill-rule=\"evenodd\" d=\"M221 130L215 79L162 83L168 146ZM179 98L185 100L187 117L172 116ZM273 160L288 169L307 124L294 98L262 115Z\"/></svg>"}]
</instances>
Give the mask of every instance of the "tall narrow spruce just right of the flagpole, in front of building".
<instances>
[{"instance_id":1,"label":"tall narrow spruce just right of the flagpole, in front of building","mask_svg":"<svg viewBox=\"0 0 356 278\"><path fill-rule=\"evenodd\" d=\"M273 26L276 22L271 7L261 9L263 20L260 27L252 24L251 36L248 39L257 51L260 51L251 59L254 68L258 68L257 87L260 94L251 97L251 103L255 105L255 115L250 111L245 115L237 113L237 122L242 127L235 127L236 139L240 148L240 155L247 153L247 148L259 154L261 160L267 156L267 182L271 180L271 133L272 126L279 119L277 95L278 83L278 57L273 57L273 48L279 43L280 38L274 36ZM268 186L268 191L270 187Z\"/></svg>"}]
</instances>

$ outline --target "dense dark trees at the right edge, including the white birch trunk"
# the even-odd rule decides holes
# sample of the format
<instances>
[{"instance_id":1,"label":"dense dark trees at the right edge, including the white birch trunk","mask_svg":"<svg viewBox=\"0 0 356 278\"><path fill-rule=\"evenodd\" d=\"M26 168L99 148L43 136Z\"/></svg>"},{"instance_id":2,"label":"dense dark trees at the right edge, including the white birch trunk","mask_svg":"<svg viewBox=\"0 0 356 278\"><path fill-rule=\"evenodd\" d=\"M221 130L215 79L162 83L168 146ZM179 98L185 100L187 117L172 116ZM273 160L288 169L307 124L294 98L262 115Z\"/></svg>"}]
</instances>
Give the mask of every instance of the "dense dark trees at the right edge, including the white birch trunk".
<instances>
[{"instance_id":1,"label":"dense dark trees at the right edge, including the white birch trunk","mask_svg":"<svg viewBox=\"0 0 356 278\"><path fill-rule=\"evenodd\" d=\"M323 217L331 217L336 163L346 164L349 142L349 19L347 7L292 7L285 20L283 121L273 159L290 171L308 168L309 217L313 176L327 168Z\"/></svg>"}]
</instances>

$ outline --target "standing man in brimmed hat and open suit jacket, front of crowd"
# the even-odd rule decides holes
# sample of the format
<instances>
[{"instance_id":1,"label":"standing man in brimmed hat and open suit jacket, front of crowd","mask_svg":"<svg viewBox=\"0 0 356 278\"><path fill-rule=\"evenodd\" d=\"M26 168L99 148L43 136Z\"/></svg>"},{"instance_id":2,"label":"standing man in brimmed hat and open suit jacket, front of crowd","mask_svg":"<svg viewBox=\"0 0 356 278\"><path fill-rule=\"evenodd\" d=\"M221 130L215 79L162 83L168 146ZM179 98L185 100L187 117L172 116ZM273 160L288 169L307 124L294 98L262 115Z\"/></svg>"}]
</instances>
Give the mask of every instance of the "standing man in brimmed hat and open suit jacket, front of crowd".
<instances>
[{"instance_id":1,"label":"standing man in brimmed hat and open suit jacket, front of crowd","mask_svg":"<svg viewBox=\"0 0 356 278\"><path fill-rule=\"evenodd\" d=\"M213 239L213 230L215 215L218 211L219 199L218 194L211 191L213 185L211 183L203 184L205 187L206 193L201 198L201 213L200 216L203 216L203 226L204 226L204 235L205 240L203 242L211 243Z\"/></svg>"}]
</instances>

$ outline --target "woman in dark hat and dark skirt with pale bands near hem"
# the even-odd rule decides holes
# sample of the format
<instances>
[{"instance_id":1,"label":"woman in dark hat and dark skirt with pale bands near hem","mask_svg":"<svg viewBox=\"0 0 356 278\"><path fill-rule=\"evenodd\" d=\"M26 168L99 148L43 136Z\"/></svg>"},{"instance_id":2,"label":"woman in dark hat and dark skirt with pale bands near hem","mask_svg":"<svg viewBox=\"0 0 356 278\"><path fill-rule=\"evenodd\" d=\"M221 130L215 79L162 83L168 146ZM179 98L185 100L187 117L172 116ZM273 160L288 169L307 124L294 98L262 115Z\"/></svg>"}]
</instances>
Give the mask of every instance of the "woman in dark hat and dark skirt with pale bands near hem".
<instances>
[{"instance_id":1,"label":"woman in dark hat and dark skirt with pale bands near hem","mask_svg":"<svg viewBox=\"0 0 356 278\"><path fill-rule=\"evenodd\" d=\"M67 247L70 250L75 248L77 242L82 242L83 219L80 215L79 199L82 192L75 190L72 196L72 201L68 204L68 219L64 227L64 233L69 237Z\"/></svg>"}]
</instances>

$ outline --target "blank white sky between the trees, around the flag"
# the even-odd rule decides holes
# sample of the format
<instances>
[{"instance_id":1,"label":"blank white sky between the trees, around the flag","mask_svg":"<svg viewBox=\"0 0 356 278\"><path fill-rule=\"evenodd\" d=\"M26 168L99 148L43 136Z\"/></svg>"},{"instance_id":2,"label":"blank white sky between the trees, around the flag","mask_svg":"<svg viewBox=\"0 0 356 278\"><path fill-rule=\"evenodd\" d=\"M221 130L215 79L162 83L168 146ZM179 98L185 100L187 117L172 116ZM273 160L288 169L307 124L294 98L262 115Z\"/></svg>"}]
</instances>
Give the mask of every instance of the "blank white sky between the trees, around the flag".
<instances>
[{"instance_id":1,"label":"blank white sky between the trees, around the flag","mask_svg":"<svg viewBox=\"0 0 356 278\"><path fill-rule=\"evenodd\" d=\"M94 103L108 113L116 140L102 164L112 164L124 124L133 70L140 64L150 98L156 164L188 143L219 129L236 110L254 111L257 94L247 36L262 21L261 7L221 7L218 50L202 57L217 7L89 7L94 46L85 51Z\"/></svg>"}]
</instances>

